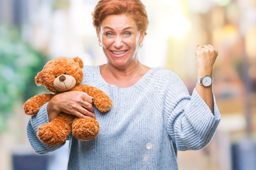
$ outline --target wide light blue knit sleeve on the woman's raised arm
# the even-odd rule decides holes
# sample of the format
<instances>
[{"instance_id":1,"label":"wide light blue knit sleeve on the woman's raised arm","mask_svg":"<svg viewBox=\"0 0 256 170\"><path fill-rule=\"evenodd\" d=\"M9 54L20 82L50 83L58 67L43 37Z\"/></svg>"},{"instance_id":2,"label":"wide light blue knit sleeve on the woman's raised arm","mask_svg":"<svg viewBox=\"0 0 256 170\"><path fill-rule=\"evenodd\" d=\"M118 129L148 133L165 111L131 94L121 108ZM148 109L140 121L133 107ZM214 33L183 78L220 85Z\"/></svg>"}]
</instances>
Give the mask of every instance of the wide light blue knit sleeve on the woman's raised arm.
<instances>
[{"instance_id":1,"label":"wide light blue knit sleeve on the woman's raised arm","mask_svg":"<svg viewBox=\"0 0 256 170\"><path fill-rule=\"evenodd\" d=\"M196 89L190 96L183 81L174 73L171 77L164 94L166 130L178 150L202 149L210 143L220 122L215 96L212 113Z\"/></svg>"}]
</instances>

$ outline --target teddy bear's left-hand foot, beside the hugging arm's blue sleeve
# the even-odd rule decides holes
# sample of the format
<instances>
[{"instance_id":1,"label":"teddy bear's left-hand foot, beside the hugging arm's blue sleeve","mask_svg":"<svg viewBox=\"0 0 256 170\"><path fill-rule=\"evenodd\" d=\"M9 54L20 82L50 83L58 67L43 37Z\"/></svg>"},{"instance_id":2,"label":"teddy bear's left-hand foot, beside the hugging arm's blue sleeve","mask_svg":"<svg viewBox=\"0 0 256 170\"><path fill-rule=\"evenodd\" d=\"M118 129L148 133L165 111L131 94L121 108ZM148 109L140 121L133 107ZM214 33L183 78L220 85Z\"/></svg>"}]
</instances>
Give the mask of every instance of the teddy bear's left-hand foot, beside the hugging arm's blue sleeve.
<instances>
[{"instance_id":1,"label":"teddy bear's left-hand foot, beside the hugging arm's blue sleeve","mask_svg":"<svg viewBox=\"0 0 256 170\"><path fill-rule=\"evenodd\" d=\"M39 139L47 145L56 146L63 144L71 132L71 127L65 123L46 123L38 128Z\"/></svg>"}]
</instances>

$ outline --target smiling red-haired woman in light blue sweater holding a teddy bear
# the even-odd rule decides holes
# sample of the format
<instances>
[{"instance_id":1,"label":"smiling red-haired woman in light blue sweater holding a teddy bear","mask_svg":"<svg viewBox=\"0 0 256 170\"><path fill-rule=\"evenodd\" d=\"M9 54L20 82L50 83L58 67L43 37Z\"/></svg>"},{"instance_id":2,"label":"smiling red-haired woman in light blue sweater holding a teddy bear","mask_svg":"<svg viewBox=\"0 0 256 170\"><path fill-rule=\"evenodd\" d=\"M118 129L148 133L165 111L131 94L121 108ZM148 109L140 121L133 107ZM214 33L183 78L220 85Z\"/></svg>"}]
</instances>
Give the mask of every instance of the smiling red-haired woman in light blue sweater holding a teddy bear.
<instances>
[{"instance_id":1,"label":"smiling red-haired woman in light blue sweater holding a teddy bear","mask_svg":"<svg viewBox=\"0 0 256 170\"><path fill-rule=\"evenodd\" d=\"M97 115L100 134L95 140L70 135L68 169L178 169L177 150L206 147L220 121L207 84L218 52L210 45L198 46L196 70L198 78L204 78L189 96L174 72L139 62L137 52L148 26L141 1L101 0L93 23L107 64L85 67L82 83L105 91L112 98L112 110L100 113L82 92L58 94L28 123L33 149L43 154L62 146L44 145L36 137L38 126L61 111L80 118ZM81 106L82 101L87 104Z\"/></svg>"}]
</instances>

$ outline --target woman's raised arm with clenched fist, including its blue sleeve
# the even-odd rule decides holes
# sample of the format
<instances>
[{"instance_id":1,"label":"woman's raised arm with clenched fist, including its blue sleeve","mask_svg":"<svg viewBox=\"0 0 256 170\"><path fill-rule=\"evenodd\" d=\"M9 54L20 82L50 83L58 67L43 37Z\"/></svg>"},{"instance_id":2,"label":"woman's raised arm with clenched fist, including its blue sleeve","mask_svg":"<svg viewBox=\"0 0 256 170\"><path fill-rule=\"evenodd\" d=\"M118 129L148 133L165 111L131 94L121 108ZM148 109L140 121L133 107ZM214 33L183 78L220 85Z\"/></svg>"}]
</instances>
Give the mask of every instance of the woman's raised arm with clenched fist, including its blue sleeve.
<instances>
[{"instance_id":1,"label":"woman's raised arm with clenched fist, including its blue sleeve","mask_svg":"<svg viewBox=\"0 0 256 170\"><path fill-rule=\"evenodd\" d=\"M198 77L212 76L217 55L217 50L210 45L198 46ZM168 91L162 95L165 102L164 121L171 140L176 143L178 150L206 147L220 122L220 112L212 87L197 84L190 96L185 84L176 74L170 74L170 79Z\"/></svg>"}]
</instances>

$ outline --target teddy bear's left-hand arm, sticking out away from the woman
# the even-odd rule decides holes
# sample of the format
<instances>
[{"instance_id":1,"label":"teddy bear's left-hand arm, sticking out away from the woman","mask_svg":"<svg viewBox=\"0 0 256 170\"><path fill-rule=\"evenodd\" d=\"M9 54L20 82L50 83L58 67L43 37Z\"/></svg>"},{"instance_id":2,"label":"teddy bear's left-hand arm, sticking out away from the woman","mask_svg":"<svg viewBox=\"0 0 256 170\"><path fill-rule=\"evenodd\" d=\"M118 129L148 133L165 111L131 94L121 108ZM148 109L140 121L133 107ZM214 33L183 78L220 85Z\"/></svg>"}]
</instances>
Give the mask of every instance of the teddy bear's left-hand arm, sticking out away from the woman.
<instances>
[{"instance_id":1,"label":"teddy bear's left-hand arm, sticking out away from the woman","mask_svg":"<svg viewBox=\"0 0 256 170\"><path fill-rule=\"evenodd\" d=\"M51 98L53 98L54 94L38 94L33 96L26 101L23 105L23 111L26 115L36 115L39 109Z\"/></svg>"}]
</instances>

